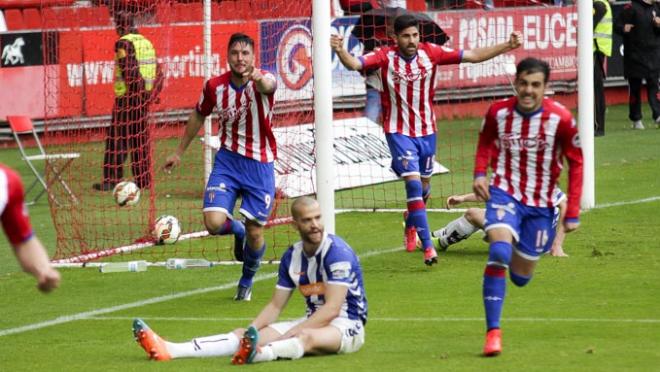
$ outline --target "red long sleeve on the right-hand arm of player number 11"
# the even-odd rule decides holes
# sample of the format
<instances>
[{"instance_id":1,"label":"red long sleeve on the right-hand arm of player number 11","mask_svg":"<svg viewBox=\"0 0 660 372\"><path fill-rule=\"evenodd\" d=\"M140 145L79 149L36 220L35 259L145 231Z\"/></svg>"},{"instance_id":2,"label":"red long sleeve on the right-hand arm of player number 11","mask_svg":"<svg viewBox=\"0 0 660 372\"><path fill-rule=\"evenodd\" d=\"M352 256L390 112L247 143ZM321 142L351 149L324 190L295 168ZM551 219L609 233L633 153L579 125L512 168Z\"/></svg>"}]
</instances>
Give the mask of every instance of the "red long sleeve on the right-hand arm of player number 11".
<instances>
[{"instance_id":1,"label":"red long sleeve on the right-hand arm of player number 11","mask_svg":"<svg viewBox=\"0 0 660 372\"><path fill-rule=\"evenodd\" d=\"M568 206L566 221L577 222L580 217L580 197L582 196L582 148L577 124L570 113L563 115L557 130L562 155L568 162Z\"/></svg>"}]
</instances>

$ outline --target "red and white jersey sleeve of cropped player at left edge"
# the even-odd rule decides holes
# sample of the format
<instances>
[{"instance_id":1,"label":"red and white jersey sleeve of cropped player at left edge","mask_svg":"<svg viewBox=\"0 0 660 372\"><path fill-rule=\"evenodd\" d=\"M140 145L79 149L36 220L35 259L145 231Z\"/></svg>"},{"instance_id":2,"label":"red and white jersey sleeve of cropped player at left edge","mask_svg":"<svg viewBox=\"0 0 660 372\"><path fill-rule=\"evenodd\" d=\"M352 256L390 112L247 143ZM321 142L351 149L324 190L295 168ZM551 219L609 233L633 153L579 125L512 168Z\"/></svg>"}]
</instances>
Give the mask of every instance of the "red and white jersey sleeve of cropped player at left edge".
<instances>
[{"instance_id":1,"label":"red and white jersey sleeve of cropped player at left edge","mask_svg":"<svg viewBox=\"0 0 660 372\"><path fill-rule=\"evenodd\" d=\"M32 237L32 226L23 200L21 178L11 168L0 164L0 221L13 246Z\"/></svg>"}]
</instances>

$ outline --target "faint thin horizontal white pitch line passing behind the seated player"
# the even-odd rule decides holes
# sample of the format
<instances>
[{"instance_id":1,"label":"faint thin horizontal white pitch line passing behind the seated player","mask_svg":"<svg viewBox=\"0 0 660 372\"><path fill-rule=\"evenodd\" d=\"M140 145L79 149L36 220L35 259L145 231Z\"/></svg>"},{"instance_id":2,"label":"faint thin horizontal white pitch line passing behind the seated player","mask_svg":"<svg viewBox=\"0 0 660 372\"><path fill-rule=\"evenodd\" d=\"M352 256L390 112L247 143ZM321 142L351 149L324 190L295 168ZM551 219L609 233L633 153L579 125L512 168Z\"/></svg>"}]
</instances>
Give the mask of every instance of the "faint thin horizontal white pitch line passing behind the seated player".
<instances>
[{"instance_id":1,"label":"faint thin horizontal white pitch line passing behind the seated player","mask_svg":"<svg viewBox=\"0 0 660 372\"><path fill-rule=\"evenodd\" d=\"M84 320L133 320L135 317L128 316L95 316ZM224 317L224 318L191 318L191 317L148 317L149 321L171 321L171 322L239 322L250 321L254 318L244 317ZM294 320L282 319L282 320ZM453 318L453 317L429 317L429 318L379 318L369 317L369 323L372 322L483 322L484 318ZM660 324L660 319L616 319L616 318L502 318L503 322L564 322L564 323L651 323Z\"/></svg>"}]
</instances>

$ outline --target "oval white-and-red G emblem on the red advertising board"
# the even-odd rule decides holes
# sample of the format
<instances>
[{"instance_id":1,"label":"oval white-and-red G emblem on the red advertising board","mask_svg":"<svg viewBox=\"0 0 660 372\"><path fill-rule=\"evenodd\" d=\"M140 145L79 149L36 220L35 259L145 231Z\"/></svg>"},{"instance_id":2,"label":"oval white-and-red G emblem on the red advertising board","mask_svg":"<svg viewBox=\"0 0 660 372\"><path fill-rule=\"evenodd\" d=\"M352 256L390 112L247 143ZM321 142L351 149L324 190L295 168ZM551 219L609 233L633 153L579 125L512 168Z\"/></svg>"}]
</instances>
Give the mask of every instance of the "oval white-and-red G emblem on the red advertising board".
<instances>
[{"instance_id":1,"label":"oval white-and-red G emblem on the red advertising board","mask_svg":"<svg viewBox=\"0 0 660 372\"><path fill-rule=\"evenodd\" d=\"M282 36L277 48L277 71L284 85L300 90L312 79L312 33L304 25L294 25Z\"/></svg>"}]
</instances>

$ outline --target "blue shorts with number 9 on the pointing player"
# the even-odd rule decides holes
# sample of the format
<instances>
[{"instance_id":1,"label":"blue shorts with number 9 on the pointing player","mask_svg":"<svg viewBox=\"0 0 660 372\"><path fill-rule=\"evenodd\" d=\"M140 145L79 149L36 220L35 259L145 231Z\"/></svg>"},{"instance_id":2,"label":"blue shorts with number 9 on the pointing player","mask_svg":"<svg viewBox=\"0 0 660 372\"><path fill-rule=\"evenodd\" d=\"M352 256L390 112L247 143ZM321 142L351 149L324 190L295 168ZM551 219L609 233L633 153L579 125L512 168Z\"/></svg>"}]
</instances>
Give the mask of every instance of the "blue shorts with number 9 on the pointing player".
<instances>
[{"instance_id":1,"label":"blue shorts with number 9 on the pointing player","mask_svg":"<svg viewBox=\"0 0 660 372\"><path fill-rule=\"evenodd\" d=\"M220 149L206 184L204 212L223 212L232 218L239 195L243 199L241 214L265 225L275 197L273 163L262 163Z\"/></svg>"}]
</instances>

